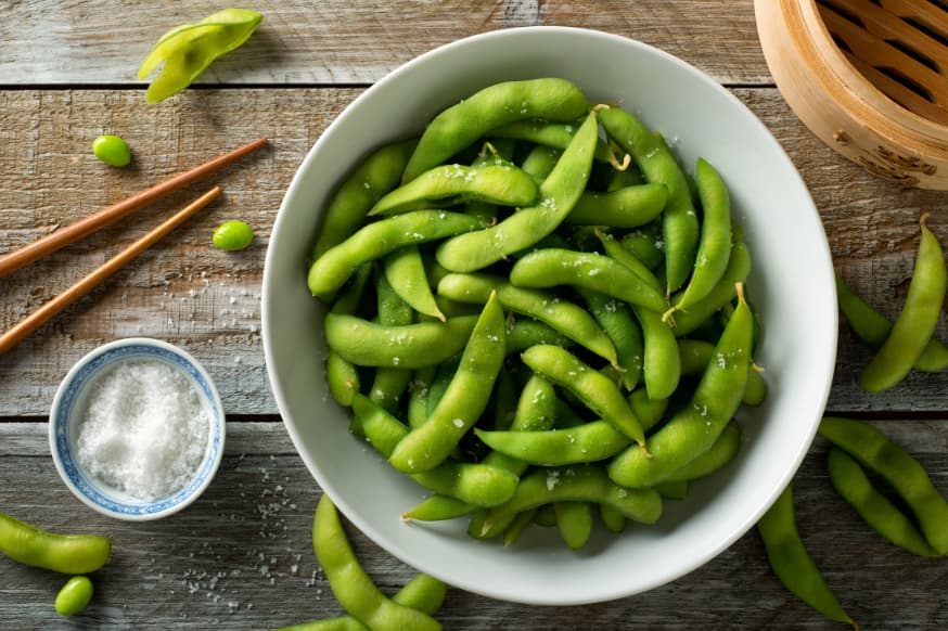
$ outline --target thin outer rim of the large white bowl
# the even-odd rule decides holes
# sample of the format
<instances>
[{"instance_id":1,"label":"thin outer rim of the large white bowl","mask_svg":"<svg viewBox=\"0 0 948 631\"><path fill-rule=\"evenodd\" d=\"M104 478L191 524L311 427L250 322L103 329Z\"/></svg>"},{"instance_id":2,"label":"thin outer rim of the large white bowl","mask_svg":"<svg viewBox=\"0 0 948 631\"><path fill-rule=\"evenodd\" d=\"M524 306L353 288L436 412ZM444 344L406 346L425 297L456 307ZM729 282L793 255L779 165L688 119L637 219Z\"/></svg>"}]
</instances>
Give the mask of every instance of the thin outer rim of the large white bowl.
<instances>
[{"instance_id":1,"label":"thin outer rim of the large white bowl","mask_svg":"<svg viewBox=\"0 0 948 631\"><path fill-rule=\"evenodd\" d=\"M719 82L717 82L715 79L713 79L705 72L703 72L700 68L693 66L692 64L686 62L684 60L681 60L681 59L672 55L671 53L668 53L662 49L655 48L655 47L648 44L645 42L642 42L640 40L636 40L631 37L626 37L626 36L617 35L617 34L613 34L613 33L608 33L608 31L603 31L603 30L599 30L599 29L584 28L584 27L571 27L571 26L525 26L525 27L512 27L512 28L498 29L498 30L472 35L469 37L464 37L464 38L445 43L443 46L431 49L431 50L413 57L412 60L399 65L398 67L394 68L388 74L386 74L382 79L377 80L372 86L370 86L364 92L359 94L356 99L354 99L353 102L350 102L340 114L337 114L335 116L335 118L330 123L330 125L320 133L320 137L312 144L312 146L307 152L305 158L297 167L297 170L293 177L293 180L291 181L290 185L287 186L286 193L284 194L283 201L281 202L280 208L278 210L278 216L277 216L277 219L276 219L274 224L273 224L273 232L271 234L270 246L268 246L267 256L265 259L265 269L264 269L264 283L262 283L262 293L261 293L261 337L262 337L262 342L264 342L265 358L266 358L266 363L267 363L268 376L269 376L270 384L271 384L271 390L273 392L274 400L277 401L278 408L281 412L283 425L286 428L287 434L290 435L290 438L291 438L292 442L294 443L294 447L297 449L297 453L299 454L300 459L306 464L307 468L309 469L310 474L313 476L313 478L316 479L316 481L318 482L318 485L320 486L322 491L329 493L330 497L338 504L340 510L343 511L343 513L347 516L347 518L349 518L349 520L353 521L353 524L357 528L359 528L362 532L364 532L376 544L379 544L381 548L383 548L387 553L392 554L396 558L399 558L400 561L402 561L409 565L417 564L419 570L425 571L428 574L433 574L437 578L446 580L446 582L449 582L451 584L456 584L459 588L464 589L466 591L479 593L482 595L486 595L489 597L501 598L501 600L507 600L510 602L517 602L517 603L524 603L524 604L529 604L529 605L584 605L584 604L607 602L607 601L612 601L612 600L616 600L616 598L620 598L620 597L626 597L626 596L630 596L633 594L643 593L643 592L646 592L649 590L655 589L657 587L670 583L671 581L677 580L678 578L681 578L682 576L694 571L699 567L702 567L703 565L707 564L710 559L713 559L714 557L719 555L721 552L723 552L725 550L730 548L738 539L743 537L754 526L754 524L756 524L756 521L760 518L760 516L777 500L781 490L791 481L791 479L795 475L796 471L799 468L799 465L802 464L804 456L809 451L809 448L810 448L810 446L816 437L818 422L815 422L812 424L812 426L808 428L807 439L805 441L800 441L800 443L798 446L796 446L796 448L793 450L793 456L791 459L793 462L793 466L789 467L785 472L783 472L783 474L781 476L781 485L779 485L779 487L774 487L774 489L768 494L768 497L766 498L765 501L760 502L758 505L756 505L754 507L753 511L748 512L747 517L743 521L734 523L732 525L731 530L729 531L729 535L727 537L722 538L720 541L718 541L718 544L716 546L714 546L714 549L707 550L701 556L696 556L695 558L693 558L691 561L691 563L682 565L682 567L680 567L678 571L666 574L661 579L652 580L652 581L645 583L644 587L641 587L640 589L637 589L635 591L629 591L628 589L623 589L622 587L615 587L615 588L608 589L606 591L603 591L601 593L601 595L597 598L575 598L575 600L558 598L554 602L553 600L551 600L549 597L547 597L547 598L542 598L542 597L525 598L523 596L518 596L518 597L504 596L504 595L499 594L497 592L491 592L491 591L489 591L489 589L477 589L477 588L472 587L470 584L458 583L458 582L451 581L450 577L445 577L444 575L440 575L437 571L433 571L433 568L426 567L424 564L418 564L417 559L407 558L406 555L401 553L401 551L393 550L389 545L386 545L385 543L380 542L379 538L376 537L376 529L374 527L372 527L371 525L367 524L364 521L364 519L361 518L361 516L359 515L358 512L351 510L351 507L350 507L349 503L346 501L346 499L344 497L340 497L340 494L337 493L336 488L332 484L332 481L322 479L325 476L317 476L317 471L320 471L320 467L318 465L316 465L315 463L310 462L312 459L309 458L308 455L305 455L300 451L299 446L302 445L302 441L303 441L302 436L300 436L299 432L297 432L295 424L289 418L287 413L284 412L284 410L289 409L289 403L284 399L284 392L278 386L278 381L276 378L277 374L276 374L276 368L273 365L274 364L274 357L273 357L274 351L273 351L273 348L271 346L272 342L271 342L270 334L269 334L270 326L272 325L272 322L274 320L273 309L276 309L276 307L270 305L269 301L266 299L269 292L270 292L270 286L273 283L273 280L272 280L272 273L273 273L272 269L274 266L273 259L277 256L276 248L272 247L273 242L276 240L272 236L276 236L277 232L280 229L280 226L282 223L281 219L283 217L285 217L284 210L287 208L289 202L291 199L293 199L298 194L299 189L303 186L304 173L310 169L310 164L317 159L317 155L320 153L321 149L326 143L326 138L330 137L332 134L332 132L334 132L335 129L342 125L342 121L346 118L346 114L349 111L357 107L363 101L371 99L377 91L382 90L388 83L398 80L402 74L412 70L417 66L426 63L431 57L439 55L439 54L444 53L445 51L449 51L449 50L452 50L456 48L462 48L462 47L467 46L470 42L475 41L475 40L502 40L503 38L508 38L508 37L516 37L516 35L521 34L521 33L538 33L538 31L573 34L573 35L580 35L580 36L585 36L585 37L602 38L602 39L612 40L613 42L615 42L617 44L643 49L646 52L649 52L650 54L662 57L666 62L683 68L684 72L687 72L689 75L691 75L694 78L694 80L700 81L702 83L705 83L709 89L715 90L716 92L721 94L725 99L727 99L735 108L738 108L738 110L742 111L744 114L746 114L747 124L756 127L760 132L763 132L763 136L767 139L767 142L769 142L771 144L771 146L774 151L774 154L778 155L779 158L789 167L787 168L787 177L793 178L795 180L795 182L798 184L799 191L805 195L806 199L809 202L807 207L803 208L802 211L807 211L807 213L810 213L811 215L814 215L816 217L817 221L820 223L820 226L822 226L822 222L821 222L821 219L819 216L819 211L816 207L816 204L812 202L812 197L809 193L809 190L806 186L806 183L804 182L803 177L800 176L799 171L796 169L793 160L790 158L789 154L783 149L783 145L780 144L780 142L776 139L776 137L770 131L770 129L757 117L757 115L755 115L750 110L750 107L747 107L747 105L745 105L735 94L733 94L730 90L728 90L727 88L721 86ZM832 269L832 256L831 256L831 252L830 252L830 247L829 247L829 242L825 239L824 231L823 231L823 239L820 241L820 243L811 244L811 246L814 247L812 255L824 258L829 262L830 269ZM829 340L830 344L828 344L827 348L825 348L825 353L829 358L835 358L836 345L838 343L838 334L837 334L838 314L837 314L837 309L836 309L835 295L833 295L832 300L833 300L832 306L828 305L828 309L827 309L828 310L827 322L828 322L828 324L831 325L830 329L832 330L832 333L831 333L832 339ZM832 308L830 308L830 307L832 307ZM827 361L827 363L825 363L825 373L827 374L822 375L823 378L821 379L821 383L822 383L821 388L818 392L814 392L815 395L817 395L817 397L816 397L816 399L818 399L817 404L818 404L819 410L821 412L825 410L825 404L827 404L827 401L829 399L830 389L832 386L832 377L833 377L834 370L835 370L835 361L832 361L832 360Z\"/></svg>"}]
</instances>

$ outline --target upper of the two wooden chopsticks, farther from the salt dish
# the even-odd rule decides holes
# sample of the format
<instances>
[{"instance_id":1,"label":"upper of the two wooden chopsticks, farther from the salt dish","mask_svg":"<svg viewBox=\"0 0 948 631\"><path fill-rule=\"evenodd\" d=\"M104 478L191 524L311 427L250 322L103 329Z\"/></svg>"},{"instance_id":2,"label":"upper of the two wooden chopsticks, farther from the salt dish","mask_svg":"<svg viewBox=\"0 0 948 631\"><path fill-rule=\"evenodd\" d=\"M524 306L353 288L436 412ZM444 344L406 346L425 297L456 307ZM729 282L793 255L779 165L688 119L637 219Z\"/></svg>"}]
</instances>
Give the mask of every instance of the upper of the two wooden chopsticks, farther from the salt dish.
<instances>
[{"instance_id":1,"label":"upper of the two wooden chopsticks, farther from the salt dish","mask_svg":"<svg viewBox=\"0 0 948 631\"><path fill-rule=\"evenodd\" d=\"M194 167L193 169L178 173L177 176L157 183L150 189L140 191L131 197L111 206L106 206L101 210L97 210L75 223L71 223L65 228L51 232L20 249L0 256L0 278L18 270L25 265L31 263L38 258L44 257L46 255L60 249L64 245L78 241L114 221L118 221L132 210L138 210L142 206L148 206L178 189L257 151L266 144L266 138L255 140L254 142L238 147L232 152L219 155L203 165Z\"/></svg>"}]
</instances>

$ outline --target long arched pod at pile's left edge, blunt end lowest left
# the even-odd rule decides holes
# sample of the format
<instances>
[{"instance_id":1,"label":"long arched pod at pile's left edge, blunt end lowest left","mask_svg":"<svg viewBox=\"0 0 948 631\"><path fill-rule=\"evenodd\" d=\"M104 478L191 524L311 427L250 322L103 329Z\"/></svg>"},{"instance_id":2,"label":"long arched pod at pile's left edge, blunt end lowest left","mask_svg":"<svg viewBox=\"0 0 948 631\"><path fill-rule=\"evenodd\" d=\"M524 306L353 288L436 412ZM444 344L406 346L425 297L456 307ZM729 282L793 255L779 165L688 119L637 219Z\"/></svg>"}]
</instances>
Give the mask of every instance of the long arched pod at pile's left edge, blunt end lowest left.
<instances>
[{"instance_id":1,"label":"long arched pod at pile's left edge, blunt end lowest left","mask_svg":"<svg viewBox=\"0 0 948 631\"><path fill-rule=\"evenodd\" d=\"M444 239L481 226L476 217L445 210L414 210L369 223L312 262L307 276L309 291L313 296L326 298L362 263L407 245Z\"/></svg>"}]
</instances>

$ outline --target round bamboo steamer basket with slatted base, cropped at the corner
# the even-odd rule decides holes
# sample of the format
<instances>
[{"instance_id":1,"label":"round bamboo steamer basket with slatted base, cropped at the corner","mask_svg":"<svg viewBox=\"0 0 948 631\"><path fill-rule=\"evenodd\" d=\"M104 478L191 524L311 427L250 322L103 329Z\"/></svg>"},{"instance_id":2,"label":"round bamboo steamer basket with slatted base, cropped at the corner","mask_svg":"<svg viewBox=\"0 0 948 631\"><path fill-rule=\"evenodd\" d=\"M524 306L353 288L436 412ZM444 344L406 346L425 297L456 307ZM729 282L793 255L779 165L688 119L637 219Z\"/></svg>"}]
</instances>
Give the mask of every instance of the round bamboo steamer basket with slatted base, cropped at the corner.
<instances>
[{"instance_id":1,"label":"round bamboo steamer basket with slatted base, cropped at the corner","mask_svg":"<svg viewBox=\"0 0 948 631\"><path fill-rule=\"evenodd\" d=\"M823 142L904 186L948 190L948 0L755 0L786 102Z\"/></svg>"}]
</instances>

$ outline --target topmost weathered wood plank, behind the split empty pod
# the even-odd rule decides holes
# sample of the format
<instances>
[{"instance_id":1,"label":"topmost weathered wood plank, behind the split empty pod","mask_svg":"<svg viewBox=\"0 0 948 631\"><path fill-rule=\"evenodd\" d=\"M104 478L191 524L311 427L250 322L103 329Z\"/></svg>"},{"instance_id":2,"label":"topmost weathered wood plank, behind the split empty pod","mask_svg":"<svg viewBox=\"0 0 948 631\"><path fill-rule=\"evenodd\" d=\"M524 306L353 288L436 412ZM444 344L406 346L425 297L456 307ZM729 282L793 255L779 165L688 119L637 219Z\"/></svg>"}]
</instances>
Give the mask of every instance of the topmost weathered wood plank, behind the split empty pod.
<instances>
[{"instance_id":1,"label":"topmost weathered wood plank, behind the split empty pod","mask_svg":"<svg viewBox=\"0 0 948 631\"><path fill-rule=\"evenodd\" d=\"M138 5L138 7L137 7ZM0 24L0 85L137 82L166 30L227 2L13 2ZM438 46L512 26L577 26L662 48L723 82L770 81L751 0L260 0L264 23L201 82L371 83Z\"/></svg>"}]
</instances>

